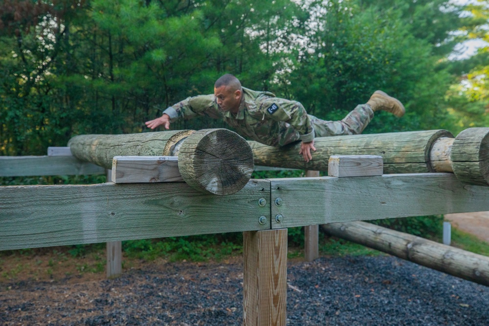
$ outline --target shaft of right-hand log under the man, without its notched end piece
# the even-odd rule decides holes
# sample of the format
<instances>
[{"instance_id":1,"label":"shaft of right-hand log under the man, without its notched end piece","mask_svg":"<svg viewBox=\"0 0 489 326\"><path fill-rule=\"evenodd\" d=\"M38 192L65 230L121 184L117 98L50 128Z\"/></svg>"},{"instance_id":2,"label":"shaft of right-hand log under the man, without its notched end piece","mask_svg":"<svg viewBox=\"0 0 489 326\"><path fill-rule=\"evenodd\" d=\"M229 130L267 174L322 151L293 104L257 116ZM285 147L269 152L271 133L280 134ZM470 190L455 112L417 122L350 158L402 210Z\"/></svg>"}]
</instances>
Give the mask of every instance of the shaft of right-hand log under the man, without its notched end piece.
<instances>
[{"instance_id":1,"label":"shaft of right-hand log under the man, without its notched end piece","mask_svg":"<svg viewBox=\"0 0 489 326\"><path fill-rule=\"evenodd\" d=\"M430 150L440 137L453 137L446 130L425 130L361 134L314 139L312 160L305 162L299 155L300 142L277 148L248 141L255 164L292 169L328 171L331 155L379 155L384 173L435 172L430 164Z\"/></svg>"}]
</instances>

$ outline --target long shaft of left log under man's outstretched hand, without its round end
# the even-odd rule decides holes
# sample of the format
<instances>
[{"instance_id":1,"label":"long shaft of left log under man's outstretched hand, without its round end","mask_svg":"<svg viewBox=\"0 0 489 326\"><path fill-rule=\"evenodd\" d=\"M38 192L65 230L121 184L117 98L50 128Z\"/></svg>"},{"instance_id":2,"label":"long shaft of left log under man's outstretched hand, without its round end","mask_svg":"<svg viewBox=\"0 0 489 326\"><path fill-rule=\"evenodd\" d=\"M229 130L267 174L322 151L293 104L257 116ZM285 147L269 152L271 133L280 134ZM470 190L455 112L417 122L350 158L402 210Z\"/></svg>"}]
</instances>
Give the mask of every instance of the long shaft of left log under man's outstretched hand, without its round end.
<instances>
[{"instance_id":1,"label":"long shaft of left log under man's outstretched hand, without its round end","mask_svg":"<svg viewBox=\"0 0 489 326\"><path fill-rule=\"evenodd\" d=\"M112 169L114 156L174 156L172 147L194 130L167 130L120 135L79 135L68 146L82 161Z\"/></svg>"}]
</instances>

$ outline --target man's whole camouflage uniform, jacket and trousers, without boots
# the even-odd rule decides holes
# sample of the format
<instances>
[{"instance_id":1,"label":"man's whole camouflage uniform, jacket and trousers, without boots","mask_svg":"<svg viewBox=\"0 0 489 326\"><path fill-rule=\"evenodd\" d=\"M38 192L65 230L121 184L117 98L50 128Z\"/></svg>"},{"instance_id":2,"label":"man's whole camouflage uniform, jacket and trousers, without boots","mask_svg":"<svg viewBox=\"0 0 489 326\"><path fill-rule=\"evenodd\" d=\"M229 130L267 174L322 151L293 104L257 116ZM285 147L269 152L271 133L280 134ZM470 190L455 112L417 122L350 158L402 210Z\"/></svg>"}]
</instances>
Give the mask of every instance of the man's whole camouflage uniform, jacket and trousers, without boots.
<instances>
[{"instance_id":1,"label":"man's whole camouflage uniform, jacket and trousers, without boots","mask_svg":"<svg viewBox=\"0 0 489 326\"><path fill-rule=\"evenodd\" d=\"M369 105L358 105L341 121L325 121L309 115L296 101L275 97L243 87L243 97L236 115L219 108L214 94L189 97L164 110L174 122L197 115L222 119L243 137L249 137L270 146L284 146L314 137L361 133L374 116Z\"/></svg>"}]
</instances>

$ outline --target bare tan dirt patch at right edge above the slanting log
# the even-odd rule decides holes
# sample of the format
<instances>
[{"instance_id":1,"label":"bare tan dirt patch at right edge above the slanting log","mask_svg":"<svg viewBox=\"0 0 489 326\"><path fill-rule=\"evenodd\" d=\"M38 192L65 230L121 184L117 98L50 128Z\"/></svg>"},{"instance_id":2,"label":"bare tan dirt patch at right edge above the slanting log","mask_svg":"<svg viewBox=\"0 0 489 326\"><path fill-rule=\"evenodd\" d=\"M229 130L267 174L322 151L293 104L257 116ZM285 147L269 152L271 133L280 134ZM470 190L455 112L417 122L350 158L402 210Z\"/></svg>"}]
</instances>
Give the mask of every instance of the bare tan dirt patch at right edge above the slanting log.
<instances>
[{"instance_id":1,"label":"bare tan dirt patch at right edge above the slanting log","mask_svg":"<svg viewBox=\"0 0 489 326\"><path fill-rule=\"evenodd\" d=\"M452 227L489 242L489 212L445 214L445 219Z\"/></svg>"}]
</instances>

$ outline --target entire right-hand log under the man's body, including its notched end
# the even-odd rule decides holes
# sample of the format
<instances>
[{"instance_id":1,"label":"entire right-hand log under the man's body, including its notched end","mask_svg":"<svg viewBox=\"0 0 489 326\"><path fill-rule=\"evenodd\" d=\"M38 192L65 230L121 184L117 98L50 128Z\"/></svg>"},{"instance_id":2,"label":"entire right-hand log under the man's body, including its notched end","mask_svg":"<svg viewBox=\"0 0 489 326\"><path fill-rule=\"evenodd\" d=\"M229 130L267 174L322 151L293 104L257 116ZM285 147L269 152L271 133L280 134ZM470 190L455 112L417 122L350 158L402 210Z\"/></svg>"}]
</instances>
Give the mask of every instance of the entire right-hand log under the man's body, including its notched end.
<instances>
[{"instance_id":1,"label":"entire right-hand log under the man's body, including its notched end","mask_svg":"<svg viewBox=\"0 0 489 326\"><path fill-rule=\"evenodd\" d=\"M308 163L298 154L300 143L248 143L256 165L327 171L331 155L379 155L385 174L448 172L470 184L489 184L489 128L470 128L456 138L446 130L318 137Z\"/></svg>"}]
</instances>

